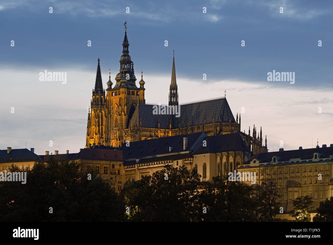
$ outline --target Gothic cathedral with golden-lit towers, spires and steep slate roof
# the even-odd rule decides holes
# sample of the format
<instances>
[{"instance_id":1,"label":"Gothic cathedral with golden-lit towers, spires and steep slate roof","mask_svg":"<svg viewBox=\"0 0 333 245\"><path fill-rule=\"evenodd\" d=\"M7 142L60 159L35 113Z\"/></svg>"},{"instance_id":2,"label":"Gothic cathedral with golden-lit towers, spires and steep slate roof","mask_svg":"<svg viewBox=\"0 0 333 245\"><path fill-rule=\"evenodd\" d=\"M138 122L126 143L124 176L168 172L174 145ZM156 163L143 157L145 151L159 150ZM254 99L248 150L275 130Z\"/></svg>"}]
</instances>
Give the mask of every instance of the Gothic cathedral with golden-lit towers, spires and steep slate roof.
<instances>
[{"instance_id":1,"label":"Gothic cathedral with golden-lit towers, spires and steep slate roof","mask_svg":"<svg viewBox=\"0 0 333 245\"><path fill-rule=\"evenodd\" d=\"M129 41L125 25L123 54L120 57L120 70L113 86L111 73L107 89L103 89L100 59L97 64L95 89L93 89L88 112L86 148L93 144L119 147L126 141L139 141L160 137L205 132L207 136L238 132L253 154L267 151L267 139L262 145L262 131L248 134L240 129L240 114L236 120L224 97L190 103L178 103L178 91L174 54L172 61L169 107L177 106L180 114L156 114L154 104L145 100L145 81L141 72L139 85L136 84L134 63L129 55Z\"/></svg>"}]
</instances>

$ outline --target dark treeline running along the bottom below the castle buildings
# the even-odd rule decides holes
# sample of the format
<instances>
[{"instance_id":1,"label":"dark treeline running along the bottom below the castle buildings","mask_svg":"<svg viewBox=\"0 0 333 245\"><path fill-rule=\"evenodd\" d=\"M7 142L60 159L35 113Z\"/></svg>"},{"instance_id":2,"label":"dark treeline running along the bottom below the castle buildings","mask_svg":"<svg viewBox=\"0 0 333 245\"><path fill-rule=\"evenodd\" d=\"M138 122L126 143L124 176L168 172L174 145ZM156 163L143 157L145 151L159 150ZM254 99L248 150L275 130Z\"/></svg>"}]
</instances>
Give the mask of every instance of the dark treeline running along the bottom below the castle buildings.
<instances>
[{"instance_id":1,"label":"dark treeline running along the bottom below the castle buildings","mask_svg":"<svg viewBox=\"0 0 333 245\"><path fill-rule=\"evenodd\" d=\"M10 171L21 169L12 165ZM200 182L195 171L183 166L166 165L126 183L120 193L100 175L81 172L75 162L51 158L25 171L26 184L0 181L3 221L253 222L274 221L281 210L274 181L267 180L256 197L243 182L222 177L215 177L214 184Z\"/></svg>"}]
</instances>

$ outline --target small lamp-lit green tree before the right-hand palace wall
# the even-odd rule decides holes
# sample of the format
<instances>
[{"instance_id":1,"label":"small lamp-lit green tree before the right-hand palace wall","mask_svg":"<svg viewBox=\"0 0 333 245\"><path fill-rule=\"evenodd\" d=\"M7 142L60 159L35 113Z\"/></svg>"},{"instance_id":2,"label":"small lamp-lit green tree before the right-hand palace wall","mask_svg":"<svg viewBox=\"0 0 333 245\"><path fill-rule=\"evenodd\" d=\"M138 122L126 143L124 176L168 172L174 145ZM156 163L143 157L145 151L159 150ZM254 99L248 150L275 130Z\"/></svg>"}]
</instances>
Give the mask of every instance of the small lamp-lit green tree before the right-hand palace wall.
<instances>
[{"instance_id":1,"label":"small lamp-lit green tree before the right-hand palace wall","mask_svg":"<svg viewBox=\"0 0 333 245\"><path fill-rule=\"evenodd\" d=\"M312 197L300 196L292 202L294 208L291 210L291 217L294 217L299 222L311 222Z\"/></svg>"}]
</instances>

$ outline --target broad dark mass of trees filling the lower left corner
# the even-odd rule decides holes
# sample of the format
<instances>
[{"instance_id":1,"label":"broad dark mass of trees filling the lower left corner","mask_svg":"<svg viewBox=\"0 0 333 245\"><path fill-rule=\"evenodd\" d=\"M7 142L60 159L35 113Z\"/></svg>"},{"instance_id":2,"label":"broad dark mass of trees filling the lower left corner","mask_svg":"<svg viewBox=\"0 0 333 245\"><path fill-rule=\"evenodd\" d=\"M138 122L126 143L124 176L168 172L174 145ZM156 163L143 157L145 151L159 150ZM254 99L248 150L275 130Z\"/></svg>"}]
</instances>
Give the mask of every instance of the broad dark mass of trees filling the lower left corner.
<instances>
[{"instance_id":1,"label":"broad dark mass of trees filling the lower left corner","mask_svg":"<svg viewBox=\"0 0 333 245\"><path fill-rule=\"evenodd\" d=\"M22 170L12 165L10 171ZM125 218L124 204L115 189L95 172L90 173L91 180L88 180L88 173L80 171L80 163L51 158L24 171L26 184L0 182L0 213L4 221L122 221Z\"/></svg>"}]
</instances>

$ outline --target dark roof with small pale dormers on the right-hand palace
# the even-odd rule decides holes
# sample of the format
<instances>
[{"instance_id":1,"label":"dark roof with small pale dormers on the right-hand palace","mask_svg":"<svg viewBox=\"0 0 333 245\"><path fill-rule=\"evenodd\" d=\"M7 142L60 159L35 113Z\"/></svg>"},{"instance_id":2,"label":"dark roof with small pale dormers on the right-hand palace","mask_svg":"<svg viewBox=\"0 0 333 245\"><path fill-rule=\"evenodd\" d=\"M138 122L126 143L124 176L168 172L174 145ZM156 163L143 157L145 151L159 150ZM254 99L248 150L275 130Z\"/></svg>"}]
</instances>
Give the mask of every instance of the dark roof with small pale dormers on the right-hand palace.
<instances>
[{"instance_id":1,"label":"dark roof with small pale dormers on the right-hand palace","mask_svg":"<svg viewBox=\"0 0 333 245\"><path fill-rule=\"evenodd\" d=\"M280 157L280 159L278 160L279 162L289 161L292 158L300 158L301 161L309 160L309 159L313 158L313 153L316 153L316 152L318 152L319 154L322 154L319 159L329 158L330 155L333 155L333 147L257 153L253 157L251 157L245 164L250 164L250 162L253 159L258 159L260 161L260 163L271 162L272 157L274 157L274 156Z\"/></svg>"}]
</instances>

